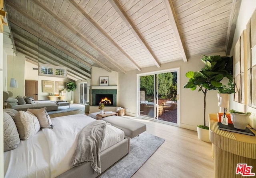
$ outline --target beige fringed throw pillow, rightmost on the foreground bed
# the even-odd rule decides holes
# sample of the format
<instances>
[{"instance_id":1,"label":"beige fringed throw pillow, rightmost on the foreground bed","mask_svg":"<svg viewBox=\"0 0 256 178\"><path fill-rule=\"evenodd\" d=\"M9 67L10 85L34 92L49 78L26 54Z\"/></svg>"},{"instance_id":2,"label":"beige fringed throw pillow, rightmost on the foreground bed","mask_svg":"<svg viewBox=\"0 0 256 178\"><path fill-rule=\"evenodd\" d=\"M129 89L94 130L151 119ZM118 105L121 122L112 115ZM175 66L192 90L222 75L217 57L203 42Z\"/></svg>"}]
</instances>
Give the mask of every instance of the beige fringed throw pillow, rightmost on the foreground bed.
<instances>
[{"instance_id":1,"label":"beige fringed throw pillow, rightmost on the foreground bed","mask_svg":"<svg viewBox=\"0 0 256 178\"><path fill-rule=\"evenodd\" d=\"M53 128L52 120L48 115L46 108L41 109L28 109L27 111L32 112L39 120L40 127L42 128Z\"/></svg>"}]
</instances>

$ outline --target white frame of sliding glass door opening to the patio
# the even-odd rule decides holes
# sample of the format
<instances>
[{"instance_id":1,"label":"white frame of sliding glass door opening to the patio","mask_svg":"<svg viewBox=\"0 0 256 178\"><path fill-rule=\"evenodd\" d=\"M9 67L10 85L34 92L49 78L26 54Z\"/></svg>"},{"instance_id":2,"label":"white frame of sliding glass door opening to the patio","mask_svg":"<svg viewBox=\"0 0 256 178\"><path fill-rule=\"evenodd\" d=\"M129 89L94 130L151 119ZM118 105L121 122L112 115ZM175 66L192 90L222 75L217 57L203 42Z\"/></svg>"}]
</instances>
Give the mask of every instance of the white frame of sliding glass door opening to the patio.
<instances>
[{"instance_id":1,"label":"white frame of sliding glass door opening to the patio","mask_svg":"<svg viewBox=\"0 0 256 178\"><path fill-rule=\"evenodd\" d=\"M167 73L167 72L177 72L177 124L176 123L172 123L172 122L167 122L167 121L162 121L162 120L158 120L156 118L157 116L157 112L158 110L156 110L156 104L158 102L158 95L156 96L156 75L157 74L162 74L162 73ZM140 116L140 76L147 76L147 75L154 75L154 118L149 118L146 116ZM166 69L166 70L159 70L159 71L154 71L154 72L145 72L145 73L140 73L137 74L137 96L136 96L136 117L138 118L144 118L144 119L148 119L148 120L153 120L156 122L162 122L164 124L169 124L169 125L173 125L173 126L180 126L180 68L171 68L171 69ZM157 91L158 92L158 91ZM157 98L156 98L157 97Z\"/></svg>"}]
</instances>

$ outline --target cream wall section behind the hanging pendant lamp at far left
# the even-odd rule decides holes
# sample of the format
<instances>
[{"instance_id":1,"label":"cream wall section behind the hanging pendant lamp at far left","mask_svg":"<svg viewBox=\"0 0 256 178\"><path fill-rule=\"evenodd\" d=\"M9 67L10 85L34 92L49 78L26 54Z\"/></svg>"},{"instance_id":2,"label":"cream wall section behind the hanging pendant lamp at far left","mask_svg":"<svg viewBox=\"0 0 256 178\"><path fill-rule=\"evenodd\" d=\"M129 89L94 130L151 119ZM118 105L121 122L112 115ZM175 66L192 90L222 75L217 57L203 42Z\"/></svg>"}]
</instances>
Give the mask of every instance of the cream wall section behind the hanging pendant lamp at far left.
<instances>
[{"instance_id":1,"label":"cream wall section behind the hanging pendant lamp at far left","mask_svg":"<svg viewBox=\"0 0 256 178\"><path fill-rule=\"evenodd\" d=\"M18 81L18 88L10 88L10 79ZM13 96L25 94L25 56L18 53L17 56L7 55L7 90L13 92Z\"/></svg>"}]
</instances>

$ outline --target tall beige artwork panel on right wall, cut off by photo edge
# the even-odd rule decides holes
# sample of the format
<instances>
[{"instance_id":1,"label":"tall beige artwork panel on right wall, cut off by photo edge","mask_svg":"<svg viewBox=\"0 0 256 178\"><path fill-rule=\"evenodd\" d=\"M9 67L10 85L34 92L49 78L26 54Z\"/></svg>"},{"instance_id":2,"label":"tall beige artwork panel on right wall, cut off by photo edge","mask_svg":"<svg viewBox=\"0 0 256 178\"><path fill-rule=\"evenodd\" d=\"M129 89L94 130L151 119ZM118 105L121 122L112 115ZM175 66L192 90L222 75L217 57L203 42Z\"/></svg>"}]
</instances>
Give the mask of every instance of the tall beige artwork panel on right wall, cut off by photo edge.
<instances>
[{"instance_id":1,"label":"tall beige artwork panel on right wall, cut off by photo edge","mask_svg":"<svg viewBox=\"0 0 256 178\"><path fill-rule=\"evenodd\" d=\"M256 108L256 12L246 26L247 34L247 104Z\"/></svg>"}]
</instances>

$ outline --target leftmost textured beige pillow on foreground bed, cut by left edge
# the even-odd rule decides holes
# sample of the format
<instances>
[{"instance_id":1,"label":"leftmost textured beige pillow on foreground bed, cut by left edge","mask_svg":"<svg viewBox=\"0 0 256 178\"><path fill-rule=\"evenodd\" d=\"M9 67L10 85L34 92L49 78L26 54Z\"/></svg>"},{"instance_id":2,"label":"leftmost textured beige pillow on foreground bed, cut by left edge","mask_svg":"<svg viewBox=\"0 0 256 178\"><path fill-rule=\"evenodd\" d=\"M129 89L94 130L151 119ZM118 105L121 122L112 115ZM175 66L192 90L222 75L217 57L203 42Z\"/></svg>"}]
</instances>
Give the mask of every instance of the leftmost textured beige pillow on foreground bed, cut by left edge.
<instances>
[{"instance_id":1,"label":"leftmost textured beige pillow on foreground bed, cut by left edge","mask_svg":"<svg viewBox=\"0 0 256 178\"><path fill-rule=\"evenodd\" d=\"M20 143L20 137L18 130L15 126L15 123L12 117L3 112L3 121L4 121L4 152L17 148Z\"/></svg>"}]
</instances>

